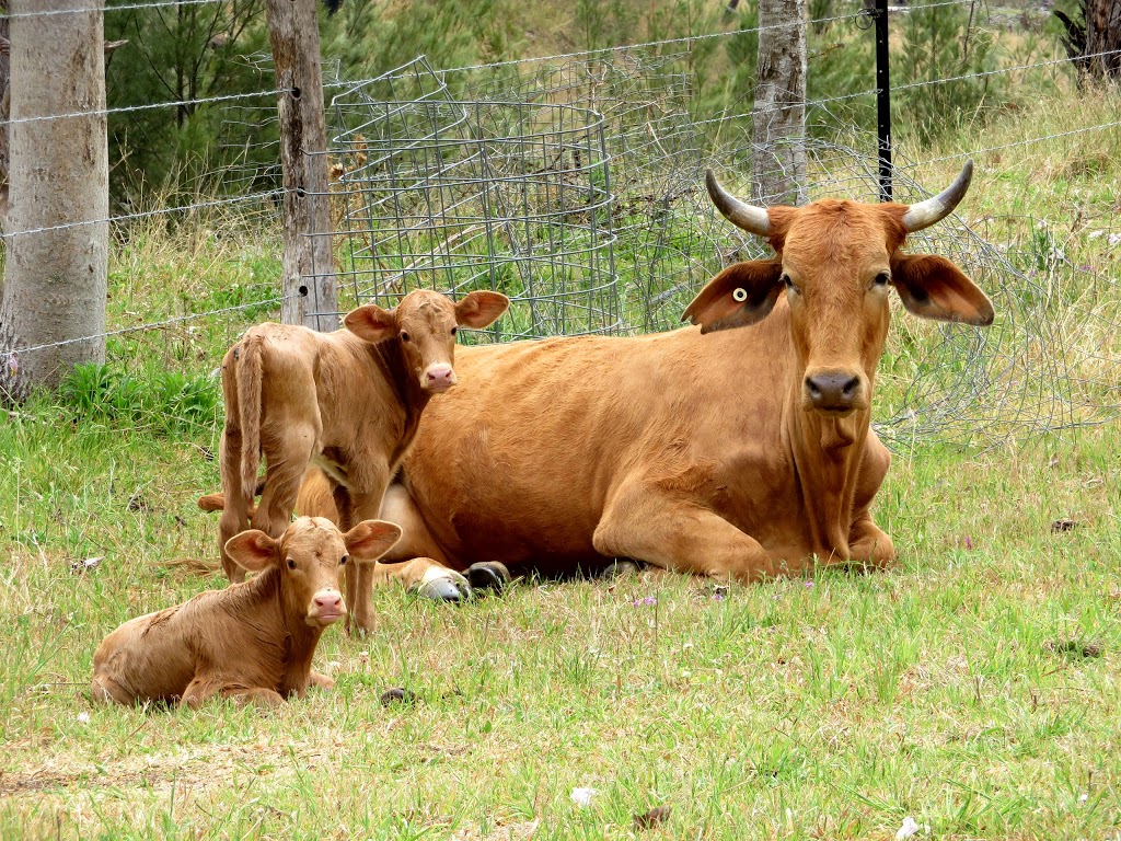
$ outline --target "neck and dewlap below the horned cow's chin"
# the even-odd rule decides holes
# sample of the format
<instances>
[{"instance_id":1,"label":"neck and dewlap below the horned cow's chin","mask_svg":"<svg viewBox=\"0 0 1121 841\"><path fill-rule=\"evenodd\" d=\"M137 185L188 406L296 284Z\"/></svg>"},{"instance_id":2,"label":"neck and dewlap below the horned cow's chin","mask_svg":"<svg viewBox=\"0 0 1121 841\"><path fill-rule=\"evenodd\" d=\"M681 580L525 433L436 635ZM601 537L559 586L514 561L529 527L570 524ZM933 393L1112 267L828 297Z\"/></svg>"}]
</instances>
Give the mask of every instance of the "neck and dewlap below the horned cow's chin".
<instances>
[{"instance_id":1,"label":"neck and dewlap below the horned cow's chin","mask_svg":"<svg viewBox=\"0 0 1121 841\"><path fill-rule=\"evenodd\" d=\"M794 379L786 414L813 551L823 560L831 555L849 557L853 500L871 410L854 412L845 418L806 412L802 407L802 380Z\"/></svg>"}]
</instances>

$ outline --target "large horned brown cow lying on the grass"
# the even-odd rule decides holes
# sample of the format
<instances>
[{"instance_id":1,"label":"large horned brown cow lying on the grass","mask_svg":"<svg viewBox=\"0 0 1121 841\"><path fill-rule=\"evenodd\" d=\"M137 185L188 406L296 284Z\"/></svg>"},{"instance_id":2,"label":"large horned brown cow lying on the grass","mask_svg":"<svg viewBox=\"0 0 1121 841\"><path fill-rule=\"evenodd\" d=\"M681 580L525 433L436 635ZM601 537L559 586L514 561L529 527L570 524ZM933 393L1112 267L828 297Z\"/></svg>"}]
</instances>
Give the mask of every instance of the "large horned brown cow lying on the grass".
<instances>
[{"instance_id":1,"label":"large horned brown cow lying on the grass","mask_svg":"<svg viewBox=\"0 0 1121 841\"><path fill-rule=\"evenodd\" d=\"M890 461L870 427L890 293L924 318L992 322L952 262L901 250L954 210L971 176L969 163L910 207L768 211L710 173L720 211L776 257L721 271L685 311L700 329L464 349L471 389L425 414L387 491L380 516L404 537L386 561L628 557L740 581L814 557L891 563L870 514Z\"/></svg>"}]
</instances>

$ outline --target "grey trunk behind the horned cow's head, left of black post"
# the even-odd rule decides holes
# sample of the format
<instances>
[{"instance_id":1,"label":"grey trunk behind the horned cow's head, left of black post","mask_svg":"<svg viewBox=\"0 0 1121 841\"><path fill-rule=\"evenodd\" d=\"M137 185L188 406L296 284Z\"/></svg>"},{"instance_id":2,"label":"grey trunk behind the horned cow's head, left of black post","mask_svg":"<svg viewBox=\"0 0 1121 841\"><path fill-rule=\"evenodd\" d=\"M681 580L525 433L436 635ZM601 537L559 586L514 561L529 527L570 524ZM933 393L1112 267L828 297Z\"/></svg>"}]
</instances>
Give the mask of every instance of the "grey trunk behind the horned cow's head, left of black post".
<instances>
[{"instance_id":1,"label":"grey trunk behind the horned cow's head, left of black post","mask_svg":"<svg viewBox=\"0 0 1121 841\"><path fill-rule=\"evenodd\" d=\"M759 0L751 128L751 194L759 204L806 198L805 21L806 0Z\"/></svg>"}]
</instances>

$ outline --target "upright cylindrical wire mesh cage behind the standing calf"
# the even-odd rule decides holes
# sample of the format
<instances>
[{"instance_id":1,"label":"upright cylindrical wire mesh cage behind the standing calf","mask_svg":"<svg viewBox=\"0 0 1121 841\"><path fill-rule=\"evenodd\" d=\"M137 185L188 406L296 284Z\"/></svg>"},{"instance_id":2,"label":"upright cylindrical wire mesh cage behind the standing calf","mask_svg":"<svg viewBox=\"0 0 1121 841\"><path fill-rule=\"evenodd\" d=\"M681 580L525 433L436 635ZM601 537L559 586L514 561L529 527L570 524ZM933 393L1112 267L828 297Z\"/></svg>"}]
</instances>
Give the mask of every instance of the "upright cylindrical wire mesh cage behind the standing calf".
<instances>
[{"instance_id":1,"label":"upright cylindrical wire mesh cage behind the standing calf","mask_svg":"<svg viewBox=\"0 0 1121 841\"><path fill-rule=\"evenodd\" d=\"M335 255L349 303L411 289L513 302L490 341L615 333L603 118L532 102L335 98Z\"/></svg>"}]
</instances>

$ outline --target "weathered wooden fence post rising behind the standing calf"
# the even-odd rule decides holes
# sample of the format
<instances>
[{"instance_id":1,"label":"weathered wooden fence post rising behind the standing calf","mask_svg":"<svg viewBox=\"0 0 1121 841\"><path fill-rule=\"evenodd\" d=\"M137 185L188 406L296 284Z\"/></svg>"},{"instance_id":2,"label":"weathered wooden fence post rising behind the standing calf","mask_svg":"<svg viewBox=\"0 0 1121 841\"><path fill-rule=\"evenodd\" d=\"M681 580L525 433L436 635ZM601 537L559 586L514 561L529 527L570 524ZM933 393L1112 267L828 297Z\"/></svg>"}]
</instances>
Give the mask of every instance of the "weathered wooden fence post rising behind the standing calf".
<instances>
[{"instance_id":1,"label":"weathered wooden fence post rising behind the standing calf","mask_svg":"<svg viewBox=\"0 0 1121 841\"><path fill-rule=\"evenodd\" d=\"M315 0L268 0L266 17L279 91L285 187L280 320L335 330L339 299L331 255L327 132Z\"/></svg>"}]
</instances>

